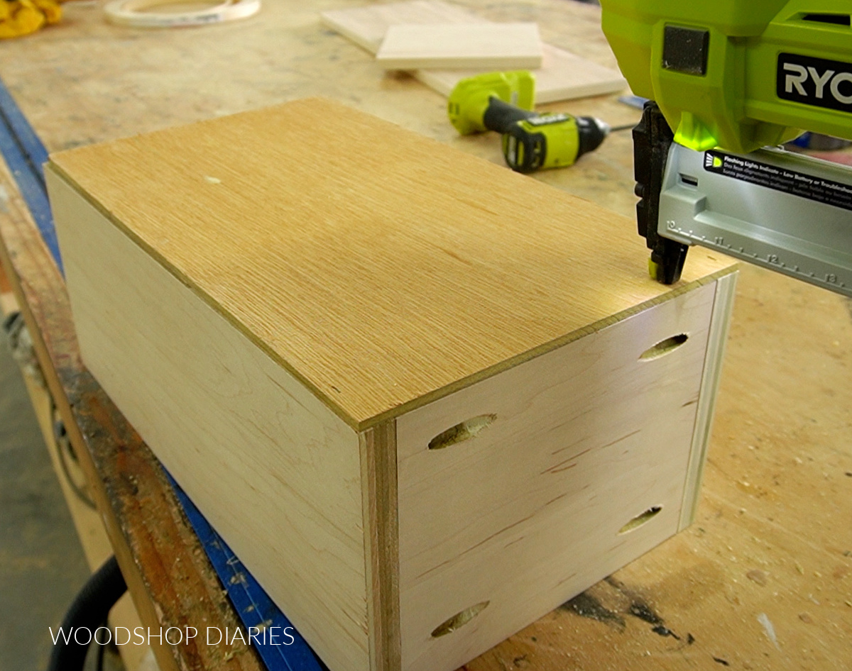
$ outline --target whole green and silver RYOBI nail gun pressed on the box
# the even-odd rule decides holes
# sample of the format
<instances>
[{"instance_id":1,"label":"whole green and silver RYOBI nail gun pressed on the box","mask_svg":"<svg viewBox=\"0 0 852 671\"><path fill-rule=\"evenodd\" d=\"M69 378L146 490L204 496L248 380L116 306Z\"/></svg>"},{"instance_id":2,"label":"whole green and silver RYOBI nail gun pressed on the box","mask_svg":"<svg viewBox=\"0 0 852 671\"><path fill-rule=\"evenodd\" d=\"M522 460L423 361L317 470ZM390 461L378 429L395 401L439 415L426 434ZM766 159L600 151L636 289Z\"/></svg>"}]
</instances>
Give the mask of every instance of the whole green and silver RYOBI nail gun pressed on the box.
<instances>
[{"instance_id":1,"label":"whole green and silver RYOBI nail gun pressed on the box","mask_svg":"<svg viewBox=\"0 0 852 671\"><path fill-rule=\"evenodd\" d=\"M601 0L636 95L639 233L650 269L690 245L852 296L852 168L777 146L852 140L849 0Z\"/></svg>"}]
</instances>

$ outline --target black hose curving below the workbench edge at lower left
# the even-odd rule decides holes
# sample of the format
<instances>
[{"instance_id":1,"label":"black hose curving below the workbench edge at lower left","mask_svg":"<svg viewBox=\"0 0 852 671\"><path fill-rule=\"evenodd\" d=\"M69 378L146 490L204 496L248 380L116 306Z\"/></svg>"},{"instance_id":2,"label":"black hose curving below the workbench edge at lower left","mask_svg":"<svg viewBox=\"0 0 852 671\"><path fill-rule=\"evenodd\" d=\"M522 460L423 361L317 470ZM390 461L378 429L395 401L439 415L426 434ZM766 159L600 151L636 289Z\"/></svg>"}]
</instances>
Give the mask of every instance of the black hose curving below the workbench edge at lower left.
<instances>
[{"instance_id":1,"label":"black hose curving below the workbench edge at lower left","mask_svg":"<svg viewBox=\"0 0 852 671\"><path fill-rule=\"evenodd\" d=\"M66 634L71 632L72 635L68 637L67 643L63 636L56 639L53 651L50 652L48 671L83 671L90 641L87 640L84 645L78 644L74 640L74 631L88 628L94 634L95 628L107 621L112 606L126 591L127 584L113 555L89 577L66 612L61 628Z\"/></svg>"}]
</instances>

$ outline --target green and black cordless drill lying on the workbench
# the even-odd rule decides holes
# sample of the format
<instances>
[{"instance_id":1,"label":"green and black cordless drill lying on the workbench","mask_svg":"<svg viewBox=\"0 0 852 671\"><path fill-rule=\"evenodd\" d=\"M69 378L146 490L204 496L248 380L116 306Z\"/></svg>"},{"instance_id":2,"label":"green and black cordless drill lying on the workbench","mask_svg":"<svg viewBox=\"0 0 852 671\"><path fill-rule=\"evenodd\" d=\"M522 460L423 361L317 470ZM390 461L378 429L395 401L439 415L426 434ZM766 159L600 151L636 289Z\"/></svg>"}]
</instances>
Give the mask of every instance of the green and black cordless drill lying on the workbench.
<instances>
[{"instance_id":1,"label":"green and black cordless drill lying on the workbench","mask_svg":"<svg viewBox=\"0 0 852 671\"><path fill-rule=\"evenodd\" d=\"M502 135L506 163L521 173L572 165L609 134L600 119L533 112L534 97L530 72L490 72L456 84L447 113L462 135L485 130Z\"/></svg>"}]
</instances>

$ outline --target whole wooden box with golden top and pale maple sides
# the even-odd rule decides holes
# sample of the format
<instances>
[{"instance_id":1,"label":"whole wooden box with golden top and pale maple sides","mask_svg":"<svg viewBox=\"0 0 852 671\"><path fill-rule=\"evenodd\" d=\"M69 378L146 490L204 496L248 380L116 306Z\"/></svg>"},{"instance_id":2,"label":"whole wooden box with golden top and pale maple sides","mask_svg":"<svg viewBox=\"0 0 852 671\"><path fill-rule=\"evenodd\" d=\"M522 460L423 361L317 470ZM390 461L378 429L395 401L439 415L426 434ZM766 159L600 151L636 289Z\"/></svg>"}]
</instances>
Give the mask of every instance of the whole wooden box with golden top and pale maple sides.
<instances>
[{"instance_id":1,"label":"whole wooden box with golden top and pale maple sides","mask_svg":"<svg viewBox=\"0 0 852 671\"><path fill-rule=\"evenodd\" d=\"M458 668L691 519L728 261L656 284L633 221L328 100L47 175L83 360L332 671Z\"/></svg>"}]
</instances>

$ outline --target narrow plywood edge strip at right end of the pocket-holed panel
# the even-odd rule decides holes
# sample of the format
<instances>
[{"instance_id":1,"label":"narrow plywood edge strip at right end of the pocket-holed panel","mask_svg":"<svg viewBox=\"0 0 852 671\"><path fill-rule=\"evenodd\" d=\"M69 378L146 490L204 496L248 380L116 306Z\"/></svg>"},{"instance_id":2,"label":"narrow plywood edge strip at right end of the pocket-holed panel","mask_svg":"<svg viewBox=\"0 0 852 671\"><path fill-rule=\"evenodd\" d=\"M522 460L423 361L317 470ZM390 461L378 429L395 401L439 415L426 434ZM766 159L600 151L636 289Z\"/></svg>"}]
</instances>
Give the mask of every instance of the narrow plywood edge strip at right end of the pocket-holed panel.
<instances>
[{"instance_id":1,"label":"narrow plywood edge strip at right end of the pocket-holed panel","mask_svg":"<svg viewBox=\"0 0 852 671\"><path fill-rule=\"evenodd\" d=\"M683 488L679 531L693 523L695 512L698 509L701 476L704 473L707 447L710 444L716 396L722 375L722 360L725 344L728 341L728 327L731 321L731 311L734 307L736 284L736 272L723 275L716 281L716 296L713 301L710 332L707 336L707 350L699 389L698 409L695 413L693 440L689 450L687 479Z\"/></svg>"}]
</instances>

